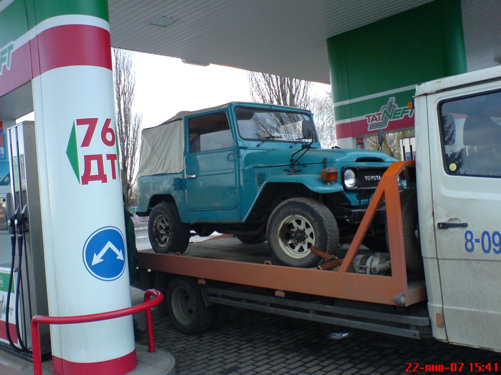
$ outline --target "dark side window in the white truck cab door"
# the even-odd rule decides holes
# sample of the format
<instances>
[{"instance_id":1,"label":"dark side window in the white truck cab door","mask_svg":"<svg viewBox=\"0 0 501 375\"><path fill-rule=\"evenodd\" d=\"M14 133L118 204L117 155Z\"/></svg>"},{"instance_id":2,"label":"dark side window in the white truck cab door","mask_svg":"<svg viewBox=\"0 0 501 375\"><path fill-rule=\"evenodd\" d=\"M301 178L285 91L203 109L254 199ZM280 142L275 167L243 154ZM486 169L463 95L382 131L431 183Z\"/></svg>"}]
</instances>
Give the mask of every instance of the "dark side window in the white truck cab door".
<instances>
[{"instance_id":1,"label":"dark side window in the white truck cab door","mask_svg":"<svg viewBox=\"0 0 501 375\"><path fill-rule=\"evenodd\" d=\"M501 92L444 101L438 112L445 171L501 177Z\"/></svg>"}]
</instances>

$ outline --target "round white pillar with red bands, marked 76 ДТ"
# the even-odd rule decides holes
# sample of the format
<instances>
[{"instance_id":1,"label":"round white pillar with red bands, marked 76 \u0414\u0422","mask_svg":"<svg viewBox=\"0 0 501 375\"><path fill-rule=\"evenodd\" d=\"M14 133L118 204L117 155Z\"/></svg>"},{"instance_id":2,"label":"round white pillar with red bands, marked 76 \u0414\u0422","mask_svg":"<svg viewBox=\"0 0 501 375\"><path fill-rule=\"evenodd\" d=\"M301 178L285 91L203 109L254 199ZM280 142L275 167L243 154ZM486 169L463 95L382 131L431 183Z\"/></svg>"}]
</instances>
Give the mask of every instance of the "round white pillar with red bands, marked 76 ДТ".
<instances>
[{"instance_id":1,"label":"round white pillar with red bands, marked 76 \u0414\u0422","mask_svg":"<svg viewBox=\"0 0 501 375\"><path fill-rule=\"evenodd\" d=\"M32 82L50 314L128 307L109 24L60 15L31 33L38 35L32 65L40 74ZM51 340L56 373L124 374L136 365L130 315L52 325Z\"/></svg>"}]
</instances>

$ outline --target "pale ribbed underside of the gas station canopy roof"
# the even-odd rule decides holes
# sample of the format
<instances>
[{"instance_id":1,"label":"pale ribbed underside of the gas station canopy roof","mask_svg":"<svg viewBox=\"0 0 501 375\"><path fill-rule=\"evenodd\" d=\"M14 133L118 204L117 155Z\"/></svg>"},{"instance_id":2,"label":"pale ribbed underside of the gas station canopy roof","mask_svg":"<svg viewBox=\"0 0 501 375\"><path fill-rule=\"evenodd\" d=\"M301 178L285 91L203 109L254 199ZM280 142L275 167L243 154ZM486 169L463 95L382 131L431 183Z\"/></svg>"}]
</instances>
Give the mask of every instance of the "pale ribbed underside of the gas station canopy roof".
<instances>
[{"instance_id":1,"label":"pale ribbed underside of the gas station canopy roof","mask_svg":"<svg viewBox=\"0 0 501 375\"><path fill-rule=\"evenodd\" d=\"M112 45L329 83L327 38L430 0L109 0ZM501 61L497 0L462 0L468 71ZM426 33L416 24L416 33ZM385 41L381 49L385 51ZM370 55L367 56L371 58Z\"/></svg>"}]
</instances>

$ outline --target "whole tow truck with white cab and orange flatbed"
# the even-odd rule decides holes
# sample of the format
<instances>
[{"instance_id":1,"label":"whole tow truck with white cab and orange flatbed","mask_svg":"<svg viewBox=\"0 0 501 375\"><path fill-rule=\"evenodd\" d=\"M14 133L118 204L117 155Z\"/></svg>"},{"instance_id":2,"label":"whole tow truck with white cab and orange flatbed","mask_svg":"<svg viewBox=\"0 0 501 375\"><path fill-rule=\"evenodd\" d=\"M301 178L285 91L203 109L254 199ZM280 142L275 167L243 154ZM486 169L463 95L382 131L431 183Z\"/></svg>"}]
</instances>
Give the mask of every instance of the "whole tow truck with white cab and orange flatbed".
<instances>
[{"instance_id":1,"label":"whole tow truck with white cab and orange flatbed","mask_svg":"<svg viewBox=\"0 0 501 375\"><path fill-rule=\"evenodd\" d=\"M500 87L499 67L417 86L417 163L387 169L342 259L319 251L327 259L317 268L284 266L266 243L224 236L182 255L141 251L142 285L166 293L173 324L187 334L218 325L235 306L501 351ZM409 190L415 226L404 207ZM383 200L389 255L362 246ZM421 275L406 270L409 230Z\"/></svg>"}]
</instances>

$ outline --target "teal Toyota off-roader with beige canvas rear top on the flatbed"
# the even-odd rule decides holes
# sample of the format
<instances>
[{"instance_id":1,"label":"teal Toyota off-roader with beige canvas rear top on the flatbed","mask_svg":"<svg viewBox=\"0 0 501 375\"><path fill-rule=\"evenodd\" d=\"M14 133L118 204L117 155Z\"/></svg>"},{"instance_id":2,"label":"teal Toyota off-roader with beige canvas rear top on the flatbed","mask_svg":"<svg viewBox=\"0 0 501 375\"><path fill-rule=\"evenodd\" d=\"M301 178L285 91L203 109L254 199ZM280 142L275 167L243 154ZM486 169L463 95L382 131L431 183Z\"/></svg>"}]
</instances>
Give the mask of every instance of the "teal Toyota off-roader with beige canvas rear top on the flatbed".
<instances>
[{"instance_id":1,"label":"teal Toyota off-roader with beige canvas rear top on the flatbed","mask_svg":"<svg viewBox=\"0 0 501 375\"><path fill-rule=\"evenodd\" d=\"M285 265L316 266L316 248L350 241L394 158L322 149L308 110L231 102L179 112L143 130L138 215L156 252L183 252L191 232L268 244ZM384 210L384 209L383 209ZM385 245L379 212L366 244Z\"/></svg>"}]
</instances>

